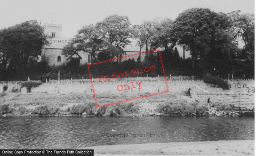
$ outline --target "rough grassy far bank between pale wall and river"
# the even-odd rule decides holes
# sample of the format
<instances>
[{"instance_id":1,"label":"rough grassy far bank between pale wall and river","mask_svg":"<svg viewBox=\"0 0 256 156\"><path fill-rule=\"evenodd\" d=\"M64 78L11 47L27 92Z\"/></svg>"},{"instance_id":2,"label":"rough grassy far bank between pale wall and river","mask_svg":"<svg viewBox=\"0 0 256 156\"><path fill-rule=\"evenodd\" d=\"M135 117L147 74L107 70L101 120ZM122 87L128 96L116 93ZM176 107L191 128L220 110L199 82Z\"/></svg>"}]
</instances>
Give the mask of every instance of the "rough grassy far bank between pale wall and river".
<instances>
[{"instance_id":1,"label":"rough grassy far bank between pale wall and river","mask_svg":"<svg viewBox=\"0 0 256 156\"><path fill-rule=\"evenodd\" d=\"M182 94L182 93L180 93ZM133 95L102 94L99 100L110 101L120 98L132 98ZM223 95L219 95L221 98ZM224 95L226 96L226 95ZM254 116L254 105L241 108L235 104L199 103L193 96L172 93L142 98L136 101L96 108L89 100L92 95L84 94L47 94L47 93L7 93L0 98L0 114L5 116L30 116L30 114L86 114L95 116ZM253 106L253 107L252 107ZM176 114L176 115L174 115ZM59 116L59 115L57 115ZM63 116L63 115L61 115Z\"/></svg>"}]
</instances>

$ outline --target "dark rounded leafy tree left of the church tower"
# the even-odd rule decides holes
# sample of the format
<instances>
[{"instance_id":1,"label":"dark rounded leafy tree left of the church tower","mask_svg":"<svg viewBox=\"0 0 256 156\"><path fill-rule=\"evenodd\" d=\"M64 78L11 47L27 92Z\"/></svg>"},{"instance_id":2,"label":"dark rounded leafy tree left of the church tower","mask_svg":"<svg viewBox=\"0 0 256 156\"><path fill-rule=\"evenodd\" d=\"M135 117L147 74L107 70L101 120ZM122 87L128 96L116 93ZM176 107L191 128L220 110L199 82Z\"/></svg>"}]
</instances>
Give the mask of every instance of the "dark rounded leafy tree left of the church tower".
<instances>
[{"instance_id":1,"label":"dark rounded leafy tree left of the church tower","mask_svg":"<svg viewBox=\"0 0 256 156\"><path fill-rule=\"evenodd\" d=\"M22 71L31 61L38 60L42 47L49 45L47 37L49 36L44 34L44 27L36 20L0 30L1 67Z\"/></svg>"}]
</instances>

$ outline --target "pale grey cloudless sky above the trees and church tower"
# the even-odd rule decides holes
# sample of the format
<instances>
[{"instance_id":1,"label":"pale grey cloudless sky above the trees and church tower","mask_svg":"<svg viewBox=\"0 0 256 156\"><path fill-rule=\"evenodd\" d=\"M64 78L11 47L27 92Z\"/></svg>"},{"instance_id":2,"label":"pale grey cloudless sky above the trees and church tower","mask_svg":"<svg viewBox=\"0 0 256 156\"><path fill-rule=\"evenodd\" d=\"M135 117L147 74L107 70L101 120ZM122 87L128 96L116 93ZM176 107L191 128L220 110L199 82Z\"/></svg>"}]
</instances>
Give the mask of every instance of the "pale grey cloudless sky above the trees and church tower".
<instances>
[{"instance_id":1,"label":"pale grey cloudless sky above the trees and church tower","mask_svg":"<svg viewBox=\"0 0 256 156\"><path fill-rule=\"evenodd\" d=\"M110 15L128 16L132 24L168 17L193 7L214 12L241 10L254 13L254 0L0 0L0 29L35 19L41 24L62 24L62 37L72 38L85 25ZM182 49L178 48L180 56ZM189 54L186 53L185 58Z\"/></svg>"}]
</instances>

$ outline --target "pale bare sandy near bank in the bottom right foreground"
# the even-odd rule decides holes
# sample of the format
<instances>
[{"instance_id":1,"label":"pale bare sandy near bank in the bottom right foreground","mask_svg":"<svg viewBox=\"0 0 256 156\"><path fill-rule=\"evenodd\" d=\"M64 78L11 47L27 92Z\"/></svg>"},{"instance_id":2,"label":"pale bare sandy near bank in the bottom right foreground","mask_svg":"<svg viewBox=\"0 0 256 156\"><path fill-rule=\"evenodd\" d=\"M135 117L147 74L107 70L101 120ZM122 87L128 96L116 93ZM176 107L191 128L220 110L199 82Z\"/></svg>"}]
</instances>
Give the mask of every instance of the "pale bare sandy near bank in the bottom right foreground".
<instances>
[{"instance_id":1,"label":"pale bare sandy near bank in the bottom right foreground","mask_svg":"<svg viewBox=\"0 0 256 156\"><path fill-rule=\"evenodd\" d=\"M255 140L202 141L185 143L153 143L133 145L102 145L94 154L127 155L254 155Z\"/></svg>"}]
</instances>

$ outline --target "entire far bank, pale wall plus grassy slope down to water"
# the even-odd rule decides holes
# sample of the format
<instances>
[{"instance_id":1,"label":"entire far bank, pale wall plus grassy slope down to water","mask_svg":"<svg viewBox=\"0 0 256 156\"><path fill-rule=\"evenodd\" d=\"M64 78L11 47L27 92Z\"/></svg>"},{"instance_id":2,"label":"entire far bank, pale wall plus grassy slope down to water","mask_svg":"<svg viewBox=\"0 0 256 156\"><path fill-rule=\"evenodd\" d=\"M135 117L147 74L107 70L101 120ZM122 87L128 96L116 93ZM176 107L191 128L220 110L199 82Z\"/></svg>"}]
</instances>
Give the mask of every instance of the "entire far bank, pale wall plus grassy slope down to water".
<instances>
[{"instance_id":1,"label":"entire far bank, pale wall plus grassy slope down to water","mask_svg":"<svg viewBox=\"0 0 256 156\"><path fill-rule=\"evenodd\" d=\"M161 116L173 113L192 114L208 113L223 114L230 116L254 116L254 81L239 81L231 83L230 90L211 87L201 81L168 81L169 93L154 95L151 97L140 98L134 101L117 104L114 106L96 109L94 96L89 83L81 84L43 84L32 93L26 93L22 88L21 92L13 93L11 90L0 93L0 115L6 116L29 116L31 113L41 114L75 114L86 113L87 115L116 116L132 115L135 116ZM114 84L114 83L113 83ZM106 104L120 100L128 100L138 96L148 95L150 89L157 93L163 91L162 82L143 82L144 89L137 91L125 91L115 93L113 91L103 91L109 88L112 83L98 84L97 93L98 104ZM240 85L237 85L240 84ZM249 86L249 90L241 85ZM153 87L154 86L154 87ZM9 85L8 88L12 86ZM56 92L49 92L53 87ZM73 90L72 87L75 87ZM90 87L90 86L89 86ZM188 89L190 95L186 94ZM48 90L48 91L46 91ZM66 91L66 92L62 92ZM78 93L75 93L77 91ZM207 99L210 104L215 104L215 108L207 106ZM217 107L218 106L218 107Z\"/></svg>"}]
</instances>

